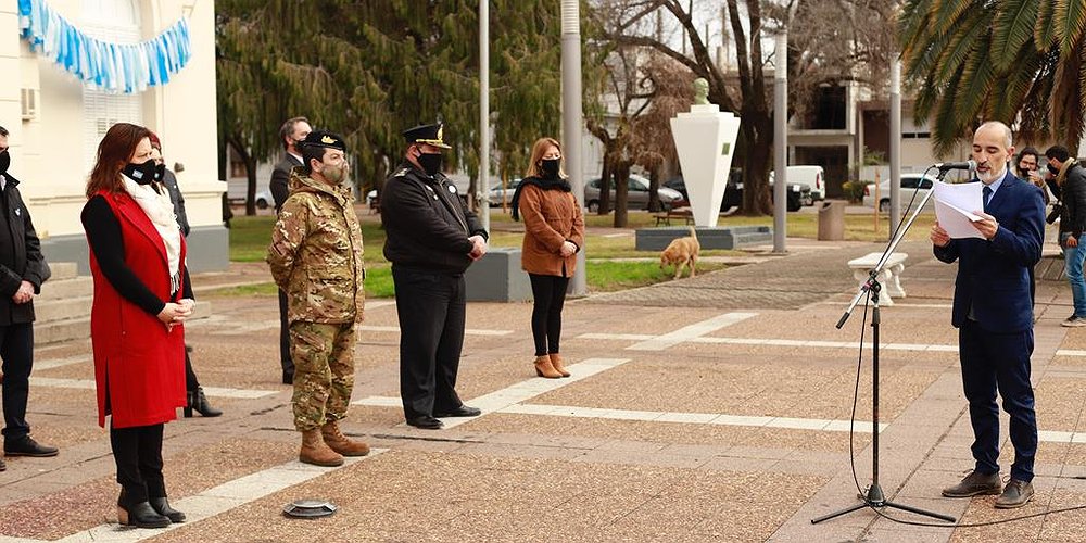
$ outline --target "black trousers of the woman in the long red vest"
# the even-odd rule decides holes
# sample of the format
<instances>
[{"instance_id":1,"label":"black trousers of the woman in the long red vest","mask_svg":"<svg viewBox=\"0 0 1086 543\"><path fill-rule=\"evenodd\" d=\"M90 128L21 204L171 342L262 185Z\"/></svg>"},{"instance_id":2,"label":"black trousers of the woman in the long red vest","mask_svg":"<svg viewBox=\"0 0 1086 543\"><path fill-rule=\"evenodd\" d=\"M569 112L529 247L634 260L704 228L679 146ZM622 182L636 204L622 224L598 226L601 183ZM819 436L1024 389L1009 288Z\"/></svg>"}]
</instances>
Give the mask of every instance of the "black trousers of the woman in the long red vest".
<instances>
[{"instance_id":1,"label":"black trousers of the woman in the long red vest","mask_svg":"<svg viewBox=\"0 0 1086 543\"><path fill-rule=\"evenodd\" d=\"M131 507L151 497L166 496L166 482L162 478L163 426L113 428L110 425L110 445L121 483L119 505Z\"/></svg>"}]
</instances>

